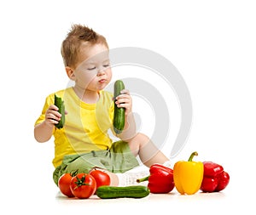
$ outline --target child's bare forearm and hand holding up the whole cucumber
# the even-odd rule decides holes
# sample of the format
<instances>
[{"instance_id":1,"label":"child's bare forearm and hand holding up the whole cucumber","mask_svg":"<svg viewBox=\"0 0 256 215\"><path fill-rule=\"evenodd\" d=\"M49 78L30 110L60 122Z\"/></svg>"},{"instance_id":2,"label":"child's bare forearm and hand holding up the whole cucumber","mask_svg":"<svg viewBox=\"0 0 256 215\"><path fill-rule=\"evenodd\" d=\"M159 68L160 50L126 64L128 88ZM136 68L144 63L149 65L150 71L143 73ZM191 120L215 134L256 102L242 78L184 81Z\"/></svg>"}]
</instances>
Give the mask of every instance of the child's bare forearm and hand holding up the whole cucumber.
<instances>
[{"instance_id":1,"label":"child's bare forearm and hand holding up the whole cucumber","mask_svg":"<svg viewBox=\"0 0 256 215\"><path fill-rule=\"evenodd\" d=\"M132 99L129 90L124 89L116 98L116 105L125 108L125 127L122 133L118 134L119 139L129 141L136 135L136 123L132 113Z\"/></svg>"}]
</instances>

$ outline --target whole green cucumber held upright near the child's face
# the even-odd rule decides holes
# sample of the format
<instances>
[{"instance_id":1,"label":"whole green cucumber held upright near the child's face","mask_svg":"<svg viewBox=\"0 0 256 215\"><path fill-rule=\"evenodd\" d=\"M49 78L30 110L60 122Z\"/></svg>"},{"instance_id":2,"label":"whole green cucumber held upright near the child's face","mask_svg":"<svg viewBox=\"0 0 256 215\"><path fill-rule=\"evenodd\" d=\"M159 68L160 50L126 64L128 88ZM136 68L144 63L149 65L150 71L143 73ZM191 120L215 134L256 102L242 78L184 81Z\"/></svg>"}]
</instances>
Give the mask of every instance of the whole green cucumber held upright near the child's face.
<instances>
[{"instance_id":1,"label":"whole green cucumber held upright near the child's face","mask_svg":"<svg viewBox=\"0 0 256 215\"><path fill-rule=\"evenodd\" d=\"M125 88L124 82L121 80L117 80L114 82L114 88L113 88L113 96L114 96L114 102L116 101L116 97L119 96L120 91L122 91ZM123 129L125 127L125 108L119 108L114 103L114 110L113 110L113 130L116 134L122 133Z\"/></svg>"}]
</instances>

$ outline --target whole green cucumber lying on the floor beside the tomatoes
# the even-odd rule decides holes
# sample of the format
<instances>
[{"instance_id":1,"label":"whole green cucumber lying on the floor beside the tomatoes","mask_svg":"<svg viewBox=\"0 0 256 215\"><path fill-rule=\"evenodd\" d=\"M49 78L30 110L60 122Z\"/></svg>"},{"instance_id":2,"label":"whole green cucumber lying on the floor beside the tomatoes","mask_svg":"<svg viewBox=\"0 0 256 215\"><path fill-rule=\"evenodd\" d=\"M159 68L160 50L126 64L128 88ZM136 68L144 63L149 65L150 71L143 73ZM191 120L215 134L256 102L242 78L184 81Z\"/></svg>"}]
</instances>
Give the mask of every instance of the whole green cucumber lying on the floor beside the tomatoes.
<instances>
[{"instance_id":1,"label":"whole green cucumber lying on the floor beside the tomatoes","mask_svg":"<svg viewBox=\"0 0 256 215\"><path fill-rule=\"evenodd\" d=\"M101 199L116 198L143 198L149 195L148 187L143 185L133 185L126 187L116 187L103 185L98 187L96 195Z\"/></svg>"}]
</instances>

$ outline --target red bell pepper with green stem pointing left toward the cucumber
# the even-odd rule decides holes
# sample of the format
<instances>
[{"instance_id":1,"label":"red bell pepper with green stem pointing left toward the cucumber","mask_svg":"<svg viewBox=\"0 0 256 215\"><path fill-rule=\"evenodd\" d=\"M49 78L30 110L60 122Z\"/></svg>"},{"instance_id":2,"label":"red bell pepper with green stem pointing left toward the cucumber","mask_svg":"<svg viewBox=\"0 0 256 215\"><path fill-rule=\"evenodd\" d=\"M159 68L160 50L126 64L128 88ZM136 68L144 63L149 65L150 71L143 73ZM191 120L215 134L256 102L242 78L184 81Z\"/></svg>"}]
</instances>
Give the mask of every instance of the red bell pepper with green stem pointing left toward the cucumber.
<instances>
[{"instance_id":1,"label":"red bell pepper with green stem pointing left toward the cucumber","mask_svg":"<svg viewBox=\"0 0 256 215\"><path fill-rule=\"evenodd\" d=\"M137 179L137 182L148 181L148 189L154 194L166 194L173 190L173 170L160 164L154 164L149 168L150 175Z\"/></svg>"}]
</instances>

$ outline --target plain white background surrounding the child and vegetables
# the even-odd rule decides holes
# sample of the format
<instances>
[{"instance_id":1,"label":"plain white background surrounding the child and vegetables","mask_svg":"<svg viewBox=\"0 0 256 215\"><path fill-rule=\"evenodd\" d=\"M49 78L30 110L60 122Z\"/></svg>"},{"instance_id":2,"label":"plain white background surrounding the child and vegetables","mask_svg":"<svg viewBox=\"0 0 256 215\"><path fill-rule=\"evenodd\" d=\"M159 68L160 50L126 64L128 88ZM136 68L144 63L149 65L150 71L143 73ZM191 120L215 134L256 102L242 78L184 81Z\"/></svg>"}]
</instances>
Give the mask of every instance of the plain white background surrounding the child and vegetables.
<instances>
[{"instance_id":1,"label":"plain white background surrounding the child and vegetables","mask_svg":"<svg viewBox=\"0 0 256 215\"><path fill-rule=\"evenodd\" d=\"M167 214L255 212L251 197L256 191L253 1L24 0L0 4L1 205L5 214L131 214L137 212L135 207L145 213ZM96 200L56 197L58 190L51 179L52 139L38 144L33 124L45 96L67 86L60 47L73 23L88 25L107 37L110 48L148 48L177 67L191 94L193 126L187 144L172 161L187 160L197 150L195 161L216 161L230 173L226 190L214 195L174 193L163 195L162 200L151 195L98 206ZM176 106L173 102L174 111ZM143 109L137 105L137 111ZM172 113L177 125L178 114ZM146 117L143 125L147 120L152 122ZM177 127L170 133L170 146ZM147 132L147 127L143 129Z\"/></svg>"}]
</instances>

